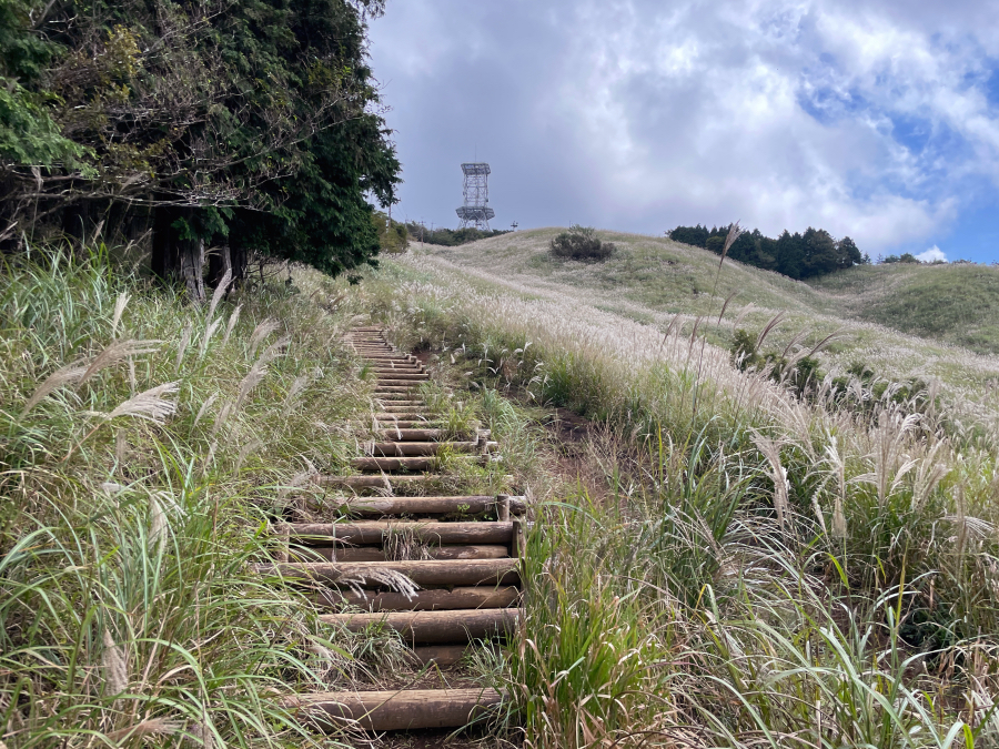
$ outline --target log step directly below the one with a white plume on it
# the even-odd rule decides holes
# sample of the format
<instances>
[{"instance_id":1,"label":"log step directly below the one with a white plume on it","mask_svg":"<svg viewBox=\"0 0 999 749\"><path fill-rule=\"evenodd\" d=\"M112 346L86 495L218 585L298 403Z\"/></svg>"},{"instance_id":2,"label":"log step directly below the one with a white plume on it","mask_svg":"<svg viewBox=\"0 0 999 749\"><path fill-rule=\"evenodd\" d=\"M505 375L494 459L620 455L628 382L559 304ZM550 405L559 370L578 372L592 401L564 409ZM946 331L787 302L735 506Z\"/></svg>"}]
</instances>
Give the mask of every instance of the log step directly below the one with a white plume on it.
<instances>
[{"instance_id":1,"label":"log step directly below the one with a white plume on it","mask_svg":"<svg viewBox=\"0 0 999 749\"><path fill-rule=\"evenodd\" d=\"M501 588L480 585L451 590L417 590L412 598L401 593L357 594L353 590L322 590L310 596L320 607L356 606L369 611L453 611L455 609L507 608L517 606L521 591L513 586Z\"/></svg>"}]
</instances>

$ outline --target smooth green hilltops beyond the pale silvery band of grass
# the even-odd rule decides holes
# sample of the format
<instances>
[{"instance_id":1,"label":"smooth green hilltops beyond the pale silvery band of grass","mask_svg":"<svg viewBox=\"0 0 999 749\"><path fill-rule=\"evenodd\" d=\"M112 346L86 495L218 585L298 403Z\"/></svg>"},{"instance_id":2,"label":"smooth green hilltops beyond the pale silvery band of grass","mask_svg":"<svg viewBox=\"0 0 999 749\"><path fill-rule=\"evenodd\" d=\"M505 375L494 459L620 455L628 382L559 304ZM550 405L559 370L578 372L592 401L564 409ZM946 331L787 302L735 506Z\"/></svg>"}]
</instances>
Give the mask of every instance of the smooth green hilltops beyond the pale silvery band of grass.
<instances>
[{"instance_id":1,"label":"smooth green hilltops beyond the pale silvery band of grass","mask_svg":"<svg viewBox=\"0 0 999 749\"><path fill-rule=\"evenodd\" d=\"M618 252L597 264L563 261L547 252L561 230L505 234L457 247L426 250L466 267L529 276L613 293L665 313L709 315L718 256L668 239L602 232ZM999 354L999 267L980 265L869 265L808 283L726 261L716 295L736 293L733 303L760 310L786 310L809 316L868 322ZM603 303L603 302L602 302Z\"/></svg>"}]
</instances>

